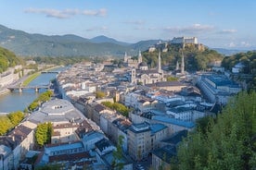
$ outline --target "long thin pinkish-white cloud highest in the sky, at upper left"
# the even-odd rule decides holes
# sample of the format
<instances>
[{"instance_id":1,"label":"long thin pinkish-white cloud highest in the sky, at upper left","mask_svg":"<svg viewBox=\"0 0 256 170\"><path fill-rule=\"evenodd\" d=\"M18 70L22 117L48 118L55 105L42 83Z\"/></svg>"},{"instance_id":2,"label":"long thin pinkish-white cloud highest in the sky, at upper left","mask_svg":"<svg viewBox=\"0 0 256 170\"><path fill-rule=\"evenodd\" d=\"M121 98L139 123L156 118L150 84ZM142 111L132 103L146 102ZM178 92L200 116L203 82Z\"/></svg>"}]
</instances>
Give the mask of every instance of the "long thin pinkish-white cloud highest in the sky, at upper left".
<instances>
[{"instance_id":1,"label":"long thin pinkish-white cloud highest in the sky, at upper left","mask_svg":"<svg viewBox=\"0 0 256 170\"><path fill-rule=\"evenodd\" d=\"M28 8L25 10L26 13L33 14L45 14L46 17L50 18L70 18L75 15L85 15L85 16L96 16L104 17L107 15L106 9L98 10L80 10L80 9L51 9L51 8Z\"/></svg>"}]
</instances>

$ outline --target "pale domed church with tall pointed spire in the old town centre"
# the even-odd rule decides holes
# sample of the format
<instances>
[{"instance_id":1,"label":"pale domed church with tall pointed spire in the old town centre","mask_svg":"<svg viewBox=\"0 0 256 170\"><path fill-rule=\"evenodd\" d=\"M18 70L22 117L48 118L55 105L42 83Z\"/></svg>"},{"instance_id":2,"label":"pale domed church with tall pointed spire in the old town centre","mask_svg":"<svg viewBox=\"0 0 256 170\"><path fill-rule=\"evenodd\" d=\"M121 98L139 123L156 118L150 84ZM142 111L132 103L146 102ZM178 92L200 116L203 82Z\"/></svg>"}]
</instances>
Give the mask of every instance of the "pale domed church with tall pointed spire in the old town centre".
<instances>
[{"instance_id":1,"label":"pale domed church with tall pointed spire in the old town centre","mask_svg":"<svg viewBox=\"0 0 256 170\"><path fill-rule=\"evenodd\" d=\"M134 67L131 71L131 82L134 84L152 84L158 81L166 81L164 79L163 71L161 69L160 64L160 53L159 53L159 60L158 60L158 67L155 69L148 69L147 63L142 62L142 55L139 52L138 56L138 65Z\"/></svg>"}]
</instances>

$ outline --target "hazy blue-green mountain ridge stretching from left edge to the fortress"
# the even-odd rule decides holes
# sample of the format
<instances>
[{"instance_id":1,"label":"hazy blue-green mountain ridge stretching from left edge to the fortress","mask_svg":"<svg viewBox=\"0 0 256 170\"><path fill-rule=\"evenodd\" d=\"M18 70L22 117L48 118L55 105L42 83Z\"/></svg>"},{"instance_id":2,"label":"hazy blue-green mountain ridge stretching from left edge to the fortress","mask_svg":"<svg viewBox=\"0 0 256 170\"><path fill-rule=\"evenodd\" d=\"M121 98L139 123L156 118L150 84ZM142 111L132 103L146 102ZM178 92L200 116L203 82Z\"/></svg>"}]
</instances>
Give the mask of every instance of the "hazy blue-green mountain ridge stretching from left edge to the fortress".
<instances>
[{"instance_id":1,"label":"hazy blue-green mountain ridge stretching from left edge to the fortress","mask_svg":"<svg viewBox=\"0 0 256 170\"><path fill-rule=\"evenodd\" d=\"M12 30L0 25L0 46L23 56L83 56L83 55L137 55L158 42L119 42L104 35L86 39L77 35L31 34L22 30Z\"/></svg>"}]
</instances>

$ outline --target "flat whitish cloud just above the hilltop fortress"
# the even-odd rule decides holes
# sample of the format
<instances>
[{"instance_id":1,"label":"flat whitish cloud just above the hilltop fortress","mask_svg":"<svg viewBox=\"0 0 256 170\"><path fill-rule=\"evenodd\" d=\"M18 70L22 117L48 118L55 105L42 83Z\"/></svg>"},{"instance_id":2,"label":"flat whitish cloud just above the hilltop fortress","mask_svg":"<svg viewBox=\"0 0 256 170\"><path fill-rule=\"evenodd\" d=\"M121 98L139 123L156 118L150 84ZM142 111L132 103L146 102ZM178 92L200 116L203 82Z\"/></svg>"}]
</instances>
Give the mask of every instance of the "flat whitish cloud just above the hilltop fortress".
<instances>
[{"instance_id":1,"label":"flat whitish cloud just above the hilltop fortress","mask_svg":"<svg viewBox=\"0 0 256 170\"><path fill-rule=\"evenodd\" d=\"M201 33L213 30L214 27L211 25L193 24L186 27L167 27L164 30L173 31L178 33Z\"/></svg>"}]
</instances>

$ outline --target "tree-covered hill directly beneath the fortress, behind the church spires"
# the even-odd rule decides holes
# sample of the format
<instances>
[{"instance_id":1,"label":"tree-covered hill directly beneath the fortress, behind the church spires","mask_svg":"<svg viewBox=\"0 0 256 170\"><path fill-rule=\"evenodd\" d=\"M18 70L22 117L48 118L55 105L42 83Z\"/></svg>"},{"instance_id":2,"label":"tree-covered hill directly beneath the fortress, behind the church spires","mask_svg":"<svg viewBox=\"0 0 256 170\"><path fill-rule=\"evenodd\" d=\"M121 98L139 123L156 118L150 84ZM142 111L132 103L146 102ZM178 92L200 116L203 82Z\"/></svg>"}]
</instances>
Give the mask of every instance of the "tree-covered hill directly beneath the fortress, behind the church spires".
<instances>
[{"instance_id":1,"label":"tree-covered hill directly beneath the fortress, behind the church spires","mask_svg":"<svg viewBox=\"0 0 256 170\"><path fill-rule=\"evenodd\" d=\"M182 49L180 44L168 44L167 52L161 53L162 66L168 66L169 69L175 69L177 61L181 63L182 53L185 57L185 67L187 71L206 70L216 61L221 62L224 58L215 50L205 47L204 50L198 50L195 45L186 46ZM144 52L144 61L150 67L157 67L159 51Z\"/></svg>"}]
</instances>

